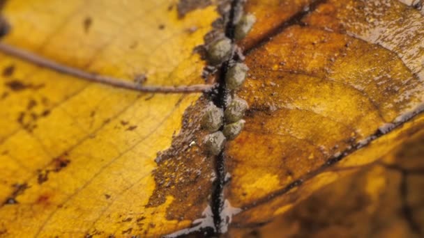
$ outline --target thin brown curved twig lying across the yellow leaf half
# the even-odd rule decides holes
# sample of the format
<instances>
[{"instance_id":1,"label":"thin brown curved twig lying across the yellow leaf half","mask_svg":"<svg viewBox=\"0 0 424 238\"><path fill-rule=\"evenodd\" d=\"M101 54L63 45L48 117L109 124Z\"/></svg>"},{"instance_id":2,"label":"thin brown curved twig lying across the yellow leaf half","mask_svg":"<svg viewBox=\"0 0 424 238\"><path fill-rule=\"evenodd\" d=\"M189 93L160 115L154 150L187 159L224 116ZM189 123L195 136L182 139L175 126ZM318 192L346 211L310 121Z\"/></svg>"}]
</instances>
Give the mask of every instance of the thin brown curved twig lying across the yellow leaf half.
<instances>
[{"instance_id":1,"label":"thin brown curved twig lying across the yellow leaf half","mask_svg":"<svg viewBox=\"0 0 424 238\"><path fill-rule=\"evenodd\" d=\"M85 72L76 68L71 68L66 65L61 65L54 61L51 61L47 58L43 58L36 54L33 54L29 51L24 51L17 47L7 45L3 42L0 42L0 51L10 56L20 58L24 61L28 61L35 65L38 65L43 68L49 68L56 72L63 74L69 74L73 77L78 77L85 79L87 81L92 81L100 84L107 84L114 86L116 88L126 88L130 90L136 90L139 92L147 93L202 93L208 92L215 88L215 84L196 84L190 86L144 86L142 84L136 84L135 82L128 81L125 79L116 79L114 77L107 77L91 72Z\"/></svg>"}]
</instances>

